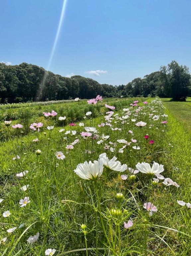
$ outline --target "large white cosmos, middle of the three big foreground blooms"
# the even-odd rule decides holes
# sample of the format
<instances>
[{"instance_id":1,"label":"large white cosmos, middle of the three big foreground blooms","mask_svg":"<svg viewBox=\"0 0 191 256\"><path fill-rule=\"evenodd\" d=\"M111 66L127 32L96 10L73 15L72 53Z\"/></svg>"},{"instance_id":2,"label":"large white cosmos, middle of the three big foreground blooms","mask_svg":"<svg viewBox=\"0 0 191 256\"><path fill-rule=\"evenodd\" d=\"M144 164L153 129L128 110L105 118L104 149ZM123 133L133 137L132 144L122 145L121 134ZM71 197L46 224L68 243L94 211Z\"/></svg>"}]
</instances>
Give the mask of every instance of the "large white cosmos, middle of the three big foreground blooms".
<instances>
[{"instance_id":1,"label":"large white cosmos, middle of the three big foreground blooms","mask_svg":"<svg viewBox=\"0 0 191 256\"><path fill-rule=\"evenodd\" d=\"M99 156L99 159L104 160L104 165L109 168L112 171L117 171L117 172L124 172L127 170L127 165L121 165L120 161L116 161L117 158L113 157L111 160L108 159L106 153L103 153Z\"/></svg>"}]
</instances>

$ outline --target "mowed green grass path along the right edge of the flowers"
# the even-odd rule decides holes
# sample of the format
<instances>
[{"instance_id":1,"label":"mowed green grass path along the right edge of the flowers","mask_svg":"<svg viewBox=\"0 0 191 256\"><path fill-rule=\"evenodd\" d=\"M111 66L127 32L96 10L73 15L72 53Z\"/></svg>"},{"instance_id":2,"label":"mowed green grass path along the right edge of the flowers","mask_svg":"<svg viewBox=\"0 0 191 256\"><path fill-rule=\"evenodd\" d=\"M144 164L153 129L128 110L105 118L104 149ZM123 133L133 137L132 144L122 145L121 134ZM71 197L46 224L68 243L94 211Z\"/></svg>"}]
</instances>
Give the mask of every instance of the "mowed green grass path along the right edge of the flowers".
<instances>
[{"instance_id":1,"label":"mowed green grass path along the right edge of the flowers","mask_svg":"<svg viewBox=\"0 0 191 256\"><path fill-rule=\"evenodd\" d=\"M169 146L163 163L169 166L171 179L176 180L180 185L177 193L171 194L168 191L164 199L170 212L168 224L188 235L182 234L181 237L176 235L172 250L174 255L190 255L191 209L178 205L176 200L191 203L191 100L188 99L188 102L162 100L166 107L165 113L168 114L166 144Z\"/></svg>"}]
</instances>

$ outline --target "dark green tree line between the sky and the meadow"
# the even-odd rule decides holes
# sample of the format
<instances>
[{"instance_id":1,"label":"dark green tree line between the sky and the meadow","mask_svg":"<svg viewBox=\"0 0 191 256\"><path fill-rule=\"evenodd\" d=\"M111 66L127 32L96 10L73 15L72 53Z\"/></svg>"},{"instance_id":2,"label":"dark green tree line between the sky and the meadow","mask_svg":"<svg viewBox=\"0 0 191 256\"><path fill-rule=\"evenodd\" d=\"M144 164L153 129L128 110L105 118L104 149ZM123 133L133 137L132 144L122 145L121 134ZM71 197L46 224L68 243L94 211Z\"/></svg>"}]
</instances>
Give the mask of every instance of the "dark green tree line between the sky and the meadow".
<instances>
[{"instance_id":1,"label":"dark green tree line between the sky and the meadow","mask_svg":"<svg viewBox=\"0 0 191 256\"><path fill-rule=\"evenodd\" d=\"M113 86L80 75L71 78L46 71L37 65L0 63L0 103L79 98L159 96L185 100L191 95L189 68L172 61L159 71Z\"/></svg>"}]
</instances>

